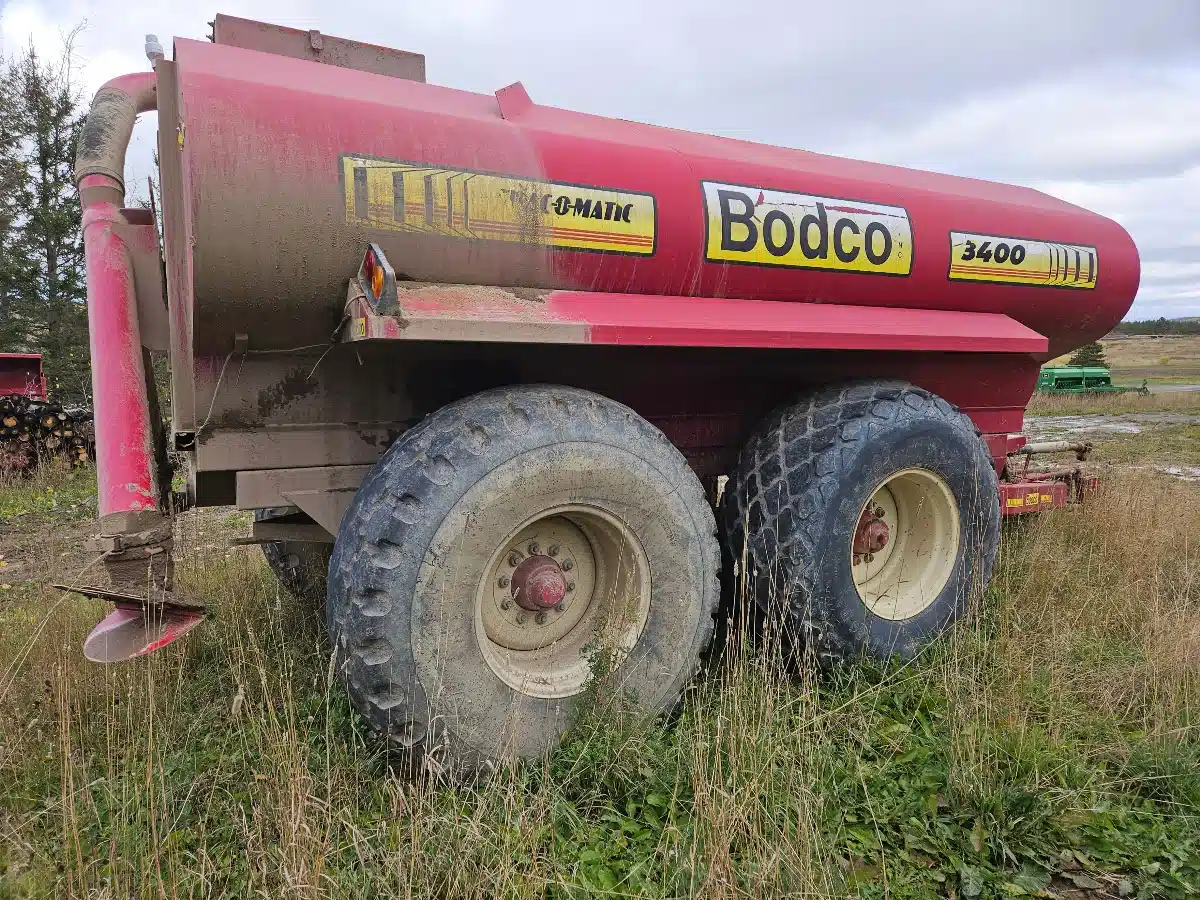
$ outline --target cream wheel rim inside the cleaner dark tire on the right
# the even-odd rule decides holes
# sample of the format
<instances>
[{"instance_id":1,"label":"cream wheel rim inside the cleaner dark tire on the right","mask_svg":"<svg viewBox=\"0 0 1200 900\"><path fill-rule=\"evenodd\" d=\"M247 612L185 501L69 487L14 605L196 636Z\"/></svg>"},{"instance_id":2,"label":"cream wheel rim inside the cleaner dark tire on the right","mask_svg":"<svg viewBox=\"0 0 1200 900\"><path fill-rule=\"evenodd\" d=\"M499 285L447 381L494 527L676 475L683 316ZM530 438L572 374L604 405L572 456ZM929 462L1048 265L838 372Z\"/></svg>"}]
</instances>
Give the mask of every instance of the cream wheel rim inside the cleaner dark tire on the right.
<instances>
[{"instance_id":1,"label":"cream wheel rim inside the cleaner dark tire on the right","mask_svg":"<svg viewBox=\"0 0 1200 900\"><path fill-rule=\"evenodd\" d=\"M882 521L888 539L866 554L856 553L852 542L854 588L875 616L911 619L929 608L954 572L961 540L959 505L936 473L904 469L875 488L859 515L859 528L871 518Z\"/></svg>"}]
</instances>

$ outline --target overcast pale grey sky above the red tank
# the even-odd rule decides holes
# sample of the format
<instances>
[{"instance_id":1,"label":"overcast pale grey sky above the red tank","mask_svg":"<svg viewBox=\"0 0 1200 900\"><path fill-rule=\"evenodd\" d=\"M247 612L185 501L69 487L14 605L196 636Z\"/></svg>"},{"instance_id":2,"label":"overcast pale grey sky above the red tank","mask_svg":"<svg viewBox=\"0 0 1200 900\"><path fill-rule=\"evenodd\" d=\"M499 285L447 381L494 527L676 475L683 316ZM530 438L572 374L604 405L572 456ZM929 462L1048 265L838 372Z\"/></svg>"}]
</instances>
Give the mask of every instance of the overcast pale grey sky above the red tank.
<instances>
[{"instance_id":1,"label":"overcast pale grey sky above the red tank","mask_svg":"<svg viewBox=\"0 0 1200 900\"><path fill-rule=\"evenodd\" d=\"M0 0L0 48L85 22L90 95L216 12L416 50L454 88L1031 185L1129 229L1132 317L1200 316L1200 0Z\"/></svg>"}]
</instances>

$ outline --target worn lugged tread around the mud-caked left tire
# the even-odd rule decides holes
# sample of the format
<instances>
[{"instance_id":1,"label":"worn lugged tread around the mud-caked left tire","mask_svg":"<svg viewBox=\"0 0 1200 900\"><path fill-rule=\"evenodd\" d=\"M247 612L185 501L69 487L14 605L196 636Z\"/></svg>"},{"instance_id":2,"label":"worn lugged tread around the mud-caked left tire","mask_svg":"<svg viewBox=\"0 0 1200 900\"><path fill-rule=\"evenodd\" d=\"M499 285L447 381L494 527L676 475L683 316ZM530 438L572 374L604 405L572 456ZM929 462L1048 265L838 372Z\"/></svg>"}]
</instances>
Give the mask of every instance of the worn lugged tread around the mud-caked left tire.
<instances>
[{"instance_id":1,"label":"worn lugged tread around the mud-caked left tire","mask_svg":"<svg viewBox=\"0 0 1200 900\"><path fill-rule=\"evenodd\" d=\"M580 440L584 431L599 443L635 448L692 510L695 528L706 538L710 604L689 652L691 670L671 688L676 698L700 668L718 614L720 553L712 509L683 455L634 410L588 391L517 385L467 397L404 432L368 473L342 523L330 566L329 630L352 702L374 731L427 769L478 769L488 761L448 745L446 730L422 696L412 653L389 648L384 654L378 587L386 583L386 570L421 565L444 514L509 448L528 440L530 432L553 442ZM388 614L410 616L412 596L390 600Z\"/></svg>"}]
</instances>

